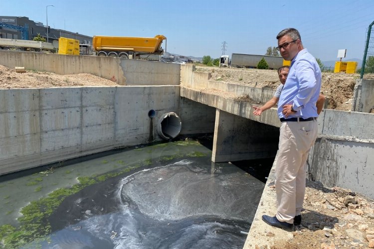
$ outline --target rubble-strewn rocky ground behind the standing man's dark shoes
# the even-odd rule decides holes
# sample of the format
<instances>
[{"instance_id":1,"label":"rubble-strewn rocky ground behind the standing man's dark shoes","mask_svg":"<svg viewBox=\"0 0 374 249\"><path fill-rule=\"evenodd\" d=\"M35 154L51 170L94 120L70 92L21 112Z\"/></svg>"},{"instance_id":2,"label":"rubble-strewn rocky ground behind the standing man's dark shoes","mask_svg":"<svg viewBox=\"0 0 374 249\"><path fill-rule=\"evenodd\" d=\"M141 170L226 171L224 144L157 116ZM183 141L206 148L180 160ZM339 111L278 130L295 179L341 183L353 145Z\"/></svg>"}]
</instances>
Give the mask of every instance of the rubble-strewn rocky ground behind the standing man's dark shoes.
<instances>
[{"instance_id":1,"label":"rubble-strewn rocky ground behind the standing man's dark shoes","mask_svg":"<svg viewBox=\"0 0 374 249\"><path fill-rule=\"evenodd\" d=\"M308 181L301 215L293 239L271 249L374 248L374 202L359 193Z\"/></svg>"}]
</instances>

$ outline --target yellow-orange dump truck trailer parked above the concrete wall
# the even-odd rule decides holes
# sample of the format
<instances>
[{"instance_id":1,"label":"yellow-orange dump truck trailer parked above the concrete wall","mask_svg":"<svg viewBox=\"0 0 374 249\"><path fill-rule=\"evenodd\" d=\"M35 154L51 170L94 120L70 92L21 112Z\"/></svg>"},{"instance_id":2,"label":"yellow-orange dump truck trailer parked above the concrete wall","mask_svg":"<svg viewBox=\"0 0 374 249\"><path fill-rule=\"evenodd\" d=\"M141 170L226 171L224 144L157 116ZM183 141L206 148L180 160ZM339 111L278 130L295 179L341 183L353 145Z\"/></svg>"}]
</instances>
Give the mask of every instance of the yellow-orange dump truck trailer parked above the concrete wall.
<instances>
[{"instance_id":1,"label":"yellow-orange dump truck trailer parked above the concrete wall","mask_svg":"<svg viewBox=\"0 0 374 249\"><path fill-rule=\"evenodd\" d=\"M122 36L94 36L93 49L97 56L113 56L120 58L138 59L145 54L163 54L161 48L164 35L155 37L122 37Z\"/></svg>"}]
</instances>

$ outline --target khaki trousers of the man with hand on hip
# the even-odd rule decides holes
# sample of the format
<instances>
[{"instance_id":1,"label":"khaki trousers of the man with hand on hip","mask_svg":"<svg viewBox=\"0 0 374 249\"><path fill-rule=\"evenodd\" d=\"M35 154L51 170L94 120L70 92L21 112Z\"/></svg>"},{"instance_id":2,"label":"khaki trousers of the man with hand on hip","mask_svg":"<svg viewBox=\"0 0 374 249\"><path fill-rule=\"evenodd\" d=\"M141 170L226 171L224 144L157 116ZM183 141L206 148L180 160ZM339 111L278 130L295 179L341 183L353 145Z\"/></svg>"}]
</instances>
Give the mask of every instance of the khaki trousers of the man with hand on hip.
<instances>
[{"instance_id":1,"label":"khaki trousers of the man with hand on hip","mask_svg":"<svg viewBox=\"0 0 374 249\"><path fill-rule=\"evenodd\" d=\"M317 121L283 122L280 127L275 189L279 221L293 223L305 195L306 161L317 138Z\"/></svg>"}]
</instances>

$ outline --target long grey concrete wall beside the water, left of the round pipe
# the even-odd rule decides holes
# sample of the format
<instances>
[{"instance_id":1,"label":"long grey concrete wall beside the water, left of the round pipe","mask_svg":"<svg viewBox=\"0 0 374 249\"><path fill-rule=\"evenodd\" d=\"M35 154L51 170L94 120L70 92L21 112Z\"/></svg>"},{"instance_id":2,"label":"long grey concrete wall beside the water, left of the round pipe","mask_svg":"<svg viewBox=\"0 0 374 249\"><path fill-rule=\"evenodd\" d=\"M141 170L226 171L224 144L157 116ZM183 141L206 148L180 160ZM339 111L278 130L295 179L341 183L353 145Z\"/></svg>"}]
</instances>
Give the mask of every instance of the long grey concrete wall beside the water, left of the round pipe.
<instances>
[{"instance_id":1,"label":"long grey concrete wall beside the water, left of the round pipe","mask_svg":"<svg viewBox=\"0 0 374 249\"><path fill-rule=\"evenodd\" d=\"M0 90L0 174L148 142L179 86Z\"/></svg>"}]
</instances>

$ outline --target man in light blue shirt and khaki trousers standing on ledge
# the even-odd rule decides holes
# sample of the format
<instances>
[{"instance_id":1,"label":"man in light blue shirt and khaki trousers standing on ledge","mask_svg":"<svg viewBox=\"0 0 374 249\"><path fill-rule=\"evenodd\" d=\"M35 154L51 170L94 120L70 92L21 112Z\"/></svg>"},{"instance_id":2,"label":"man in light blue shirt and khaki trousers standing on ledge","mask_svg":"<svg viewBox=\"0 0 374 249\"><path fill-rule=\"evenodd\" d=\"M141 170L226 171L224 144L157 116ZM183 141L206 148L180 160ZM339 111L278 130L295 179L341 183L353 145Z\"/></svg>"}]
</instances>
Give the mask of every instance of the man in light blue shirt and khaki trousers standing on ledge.
<instances>
[{"instance_id":1,"label":"man in light blue shirt and khaki trousers standing on ledge","mask_svg":"<svg viewBox=\"0 0 374 249\"><path fill-rule=\"evenodd\" d=\"M263 215L267 224L293 229L301 223L305 195L306 161L317 138L316 102L321 90L321 70L304 49L299 31L286 28L277 35L278 49L291 61L290 72L278 101L280 127L275 165L277 214Z\"/></svg>"}]
</instances>

